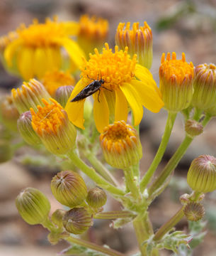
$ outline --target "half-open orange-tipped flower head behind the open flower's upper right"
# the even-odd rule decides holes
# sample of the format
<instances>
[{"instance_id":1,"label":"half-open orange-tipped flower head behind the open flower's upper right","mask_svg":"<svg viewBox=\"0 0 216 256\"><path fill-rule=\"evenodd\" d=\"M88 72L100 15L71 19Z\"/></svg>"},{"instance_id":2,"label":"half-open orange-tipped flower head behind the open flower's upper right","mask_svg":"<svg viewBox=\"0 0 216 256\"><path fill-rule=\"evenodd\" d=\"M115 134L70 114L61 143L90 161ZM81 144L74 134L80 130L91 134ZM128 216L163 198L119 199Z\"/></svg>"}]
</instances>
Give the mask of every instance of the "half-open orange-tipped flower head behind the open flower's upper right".
<instances>
[{"instance_id":1,"label":"half-open orange-tipped flower head behind the open flower's upper right","mask_svg":"<svg viewBox=\"0 0 216 256\"><path fill-rule=\"evenodd\" d=\"M130 30L130 22L119 23L116 34L115 43L120 49L128 47L131 56L137 54L137 60L140 65L150 69L152 66L152 29L146 21L144 26L140 26L139 22L132 24Z\"/></svg>"}]
</instances>

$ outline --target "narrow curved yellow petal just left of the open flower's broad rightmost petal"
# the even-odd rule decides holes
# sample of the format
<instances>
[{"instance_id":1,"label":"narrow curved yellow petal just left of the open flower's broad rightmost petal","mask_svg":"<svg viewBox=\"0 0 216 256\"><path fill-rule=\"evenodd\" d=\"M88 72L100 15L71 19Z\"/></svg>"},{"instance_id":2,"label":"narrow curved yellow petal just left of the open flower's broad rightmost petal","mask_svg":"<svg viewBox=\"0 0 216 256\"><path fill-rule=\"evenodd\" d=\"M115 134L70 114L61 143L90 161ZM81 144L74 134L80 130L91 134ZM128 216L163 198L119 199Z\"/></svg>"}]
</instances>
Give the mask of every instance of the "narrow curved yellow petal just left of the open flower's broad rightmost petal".
<instances>
[{"instance_id":1,"label":"narrow curved yellow petal just left of the open flower's broad rightmost petal","mask_svg":"<svg viewBox=\"0 0 216 256\"><path fill-rule=\"evenodd\" d=\"M140 124L143 116L143 108L140 100L140 96L137 94L135 88L130 85L128 82L124 82L123 85L120 86L120 90L123 91L127 102L129 103L132 113L135 118L135 125Z\"/></svg>"}]
</instances>

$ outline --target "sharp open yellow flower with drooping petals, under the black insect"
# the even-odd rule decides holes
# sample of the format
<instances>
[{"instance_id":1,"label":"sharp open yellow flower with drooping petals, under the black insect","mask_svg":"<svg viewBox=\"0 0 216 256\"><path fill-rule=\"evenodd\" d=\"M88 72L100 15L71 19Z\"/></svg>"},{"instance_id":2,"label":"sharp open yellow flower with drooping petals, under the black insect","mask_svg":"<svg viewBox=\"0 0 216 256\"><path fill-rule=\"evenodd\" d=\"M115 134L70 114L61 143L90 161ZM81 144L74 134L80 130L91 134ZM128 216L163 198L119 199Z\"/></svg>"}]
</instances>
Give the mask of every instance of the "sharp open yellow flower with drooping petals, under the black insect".
<instances>
[{"instance_id":1,"label":"sharp open yellow flower with drooping petals, under the black insect","mask_svg":"<svg viewBox=\"0 0 216 256\"><path fill-rule=\"evenodd\" d=\"M135 125L140 124L143 108L147 107L152 112L159 112L164 102L161 100L152 74L147 68L137 64L136 55L130 58L125 51L118 50L115 53L105 44L103 53L90 55L90 60L84 60L81 66L81 80L77 82L69 101L65 106L69 119L77 126L84 129L84 100L71 102L93 80L103 79L103 87L93 94L93 115L98 132L108 126L110 116L115 121L127 122L128 105L131 107ZM100 93L100 95L98 95Z\"/></svg>"}]
</instances>

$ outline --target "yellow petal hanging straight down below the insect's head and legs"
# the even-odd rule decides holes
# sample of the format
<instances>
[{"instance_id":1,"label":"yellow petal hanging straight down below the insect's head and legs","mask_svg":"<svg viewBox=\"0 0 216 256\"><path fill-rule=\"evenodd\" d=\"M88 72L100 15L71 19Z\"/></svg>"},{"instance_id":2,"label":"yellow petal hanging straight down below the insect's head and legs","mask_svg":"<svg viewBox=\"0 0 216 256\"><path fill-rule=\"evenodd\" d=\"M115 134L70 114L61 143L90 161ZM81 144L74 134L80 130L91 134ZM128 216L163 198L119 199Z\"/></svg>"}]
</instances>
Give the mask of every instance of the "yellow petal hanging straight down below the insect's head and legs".
<instances>
[{"instance_id":1,"label":"yellow petal hanging straight down below the insect's head and legs","mask_svg":"<svg viewBox=\"0 0 216 256\"><path fill-rule=\"evenodd\" d=\"M93 117L96 123L96 128L98 132L103 132L103 128L108 126L109 124L109 108L108 103L106 101L106 97L101 90L100 102L98 102L98 92L94 94L94 102L93 102Z\"/></svg>"}]
</instances>

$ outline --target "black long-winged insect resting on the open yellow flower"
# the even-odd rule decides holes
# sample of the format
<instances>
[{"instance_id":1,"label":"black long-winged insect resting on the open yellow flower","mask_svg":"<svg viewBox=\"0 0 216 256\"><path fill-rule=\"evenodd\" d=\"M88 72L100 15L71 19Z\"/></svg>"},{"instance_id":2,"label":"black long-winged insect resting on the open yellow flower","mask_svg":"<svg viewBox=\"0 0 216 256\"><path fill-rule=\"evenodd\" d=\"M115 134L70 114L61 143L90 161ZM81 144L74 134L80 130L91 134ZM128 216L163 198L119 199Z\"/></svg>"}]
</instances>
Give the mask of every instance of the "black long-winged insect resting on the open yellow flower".
<instances>
[{"instance_id":1,"label":"black long-winged insect resting on the open yellow flower","mask_svg":"<svg viewBox=\"0 0 216 256\"><path fill-rule=\"evenodd\" d=\"M84 100L86 97L89 97L90 95L93 95L93 93L98 91L98 90L99 90L98 102L100 102L99 96L100 96L100 93L101 93L101 88L104 88L104 89L108 90L106 87L102 86L105 81L102 78L100 80L98 80L98 79L94 80L92 78L89 78L89 79L93 80L93 82L91 82L89 85L84 87L84 89L81 90L81 92L79 92L78 95L76 95L76 97L74 97L74 99L71 100L71 102L76 102L76 101L79 101L79 100ZM109 91L112 92L111 90L109 90Z\"/></svg>"}]
</instances>

